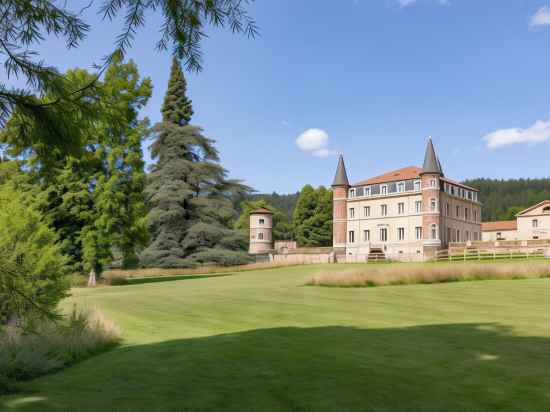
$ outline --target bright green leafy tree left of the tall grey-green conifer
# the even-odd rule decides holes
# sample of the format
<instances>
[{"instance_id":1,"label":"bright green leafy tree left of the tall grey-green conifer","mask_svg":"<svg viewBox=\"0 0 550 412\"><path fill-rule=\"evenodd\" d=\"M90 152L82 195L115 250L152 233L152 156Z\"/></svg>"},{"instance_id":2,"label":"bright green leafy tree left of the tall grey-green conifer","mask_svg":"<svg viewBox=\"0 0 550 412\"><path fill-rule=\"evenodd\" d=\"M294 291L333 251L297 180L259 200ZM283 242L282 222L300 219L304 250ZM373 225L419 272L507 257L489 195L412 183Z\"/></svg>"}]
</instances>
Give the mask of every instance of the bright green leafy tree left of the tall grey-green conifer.
<instances>
[{"instance_id":1,"label":"bright green leafy tree left of the tall grey-green conifer","mask_svg":"<svg viewBox=\"0 0 550 412\"><path fill-rule=\"evenodd\" d=\"M77 85L92 76L71 70L65 78ZM114 249L124 265L135 262L147 241L141 142L148 121L139 119L139 110L151 91L150 80L140 80L134 63L115 59L105 78L87 91L101 116L75 126L84 143L78 155L49 153L42 143L32 143L36 139L21 138L29 119L18 110L0 136L10 155L26 159L28 175L39 188L36 203L76 270L100 273Z\"/></svg>"}]
</instances>

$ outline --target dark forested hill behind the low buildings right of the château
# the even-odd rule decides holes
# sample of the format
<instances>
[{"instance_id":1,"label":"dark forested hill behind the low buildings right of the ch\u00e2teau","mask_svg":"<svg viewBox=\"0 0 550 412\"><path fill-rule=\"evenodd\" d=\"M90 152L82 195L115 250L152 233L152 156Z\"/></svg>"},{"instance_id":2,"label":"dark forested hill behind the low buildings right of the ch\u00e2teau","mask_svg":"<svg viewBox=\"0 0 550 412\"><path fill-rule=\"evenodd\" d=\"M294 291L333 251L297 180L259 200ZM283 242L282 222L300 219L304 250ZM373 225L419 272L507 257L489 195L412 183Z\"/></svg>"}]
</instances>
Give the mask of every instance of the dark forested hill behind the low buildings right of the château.
<instances>
[{"instance_id":1,"label":"dark forested hill behind the low buildings right of the ch\u00e2teau","mask_svg":"<svg viewBox=\"0 0 550 412\"><path fill-rule=\"evenodd\" d=\"M519 211L550 199L549 179L472 179L464 184L481 191L483 221L511 220Z\"/></svg>"}]
</instances>

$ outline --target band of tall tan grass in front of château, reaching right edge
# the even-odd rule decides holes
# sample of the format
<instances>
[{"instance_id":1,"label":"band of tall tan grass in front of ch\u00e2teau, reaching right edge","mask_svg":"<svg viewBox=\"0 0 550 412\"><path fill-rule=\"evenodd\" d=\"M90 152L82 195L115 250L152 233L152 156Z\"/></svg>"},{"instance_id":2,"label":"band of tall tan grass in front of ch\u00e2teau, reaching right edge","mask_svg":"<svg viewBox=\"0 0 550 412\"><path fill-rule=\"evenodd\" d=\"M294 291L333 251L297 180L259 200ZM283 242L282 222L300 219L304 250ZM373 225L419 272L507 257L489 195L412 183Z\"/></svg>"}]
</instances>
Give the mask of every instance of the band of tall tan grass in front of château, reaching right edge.
<instances>
[{"instance_id":1,"label":"band of tall tan grass in front of ch\u00e2teau, reaching right edge","mask_svg":"<svg viewBox=\"0 0 550 412\"><path fill-rule=\"evenodd\" d=\"M467 280L550 277L550 263L452 263L366 267L341 273L319 273L308 279L315 286L387 286Z\"/></svg>"}]
</instances>

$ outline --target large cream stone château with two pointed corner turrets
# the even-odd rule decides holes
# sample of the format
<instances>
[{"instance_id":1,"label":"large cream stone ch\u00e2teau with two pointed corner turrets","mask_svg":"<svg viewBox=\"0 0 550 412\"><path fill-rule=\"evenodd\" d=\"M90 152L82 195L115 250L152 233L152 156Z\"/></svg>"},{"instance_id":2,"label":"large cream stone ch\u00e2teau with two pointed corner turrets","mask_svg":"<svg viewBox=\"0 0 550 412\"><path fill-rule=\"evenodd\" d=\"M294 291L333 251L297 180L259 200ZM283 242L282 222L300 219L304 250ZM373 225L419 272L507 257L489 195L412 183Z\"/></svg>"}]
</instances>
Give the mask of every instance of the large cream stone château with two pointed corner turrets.
<instances>
[{"instance_id":1,"label":"large cream stone ch\u00e2teau with two pointed corner turrets","mask_svg":"<svg viewBox=\"0 0 550 412\"><path fill-rule=\"evenodd\" d=\"M450 242L481 240L479 191L443 173L431 138L422 167L350 184L340 156L332 183L333 247L339 260L384 255L427 260Z\"/></svg>"}]
</instances>

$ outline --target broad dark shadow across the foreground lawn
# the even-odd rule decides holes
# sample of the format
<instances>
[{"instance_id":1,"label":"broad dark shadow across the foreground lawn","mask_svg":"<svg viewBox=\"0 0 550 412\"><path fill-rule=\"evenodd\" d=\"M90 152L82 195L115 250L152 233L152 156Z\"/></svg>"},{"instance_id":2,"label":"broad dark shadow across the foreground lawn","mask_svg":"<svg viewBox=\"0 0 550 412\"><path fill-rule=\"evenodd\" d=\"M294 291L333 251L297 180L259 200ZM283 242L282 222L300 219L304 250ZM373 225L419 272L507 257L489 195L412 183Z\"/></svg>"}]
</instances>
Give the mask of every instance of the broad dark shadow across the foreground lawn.
<instances>
[{"instance_id":1,"label":"broad dark shadow across the foreground lawn","mask_svg":"<svg viewBox=\"0 0 550 412\"><path fill-rule=\"evenodd\" d=\"M550 339L494 324L274 328L123 347L0 398L20 411L548 411Z\"/></svg>"}]
</instances>

